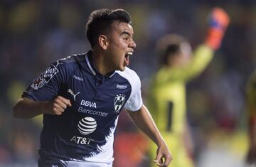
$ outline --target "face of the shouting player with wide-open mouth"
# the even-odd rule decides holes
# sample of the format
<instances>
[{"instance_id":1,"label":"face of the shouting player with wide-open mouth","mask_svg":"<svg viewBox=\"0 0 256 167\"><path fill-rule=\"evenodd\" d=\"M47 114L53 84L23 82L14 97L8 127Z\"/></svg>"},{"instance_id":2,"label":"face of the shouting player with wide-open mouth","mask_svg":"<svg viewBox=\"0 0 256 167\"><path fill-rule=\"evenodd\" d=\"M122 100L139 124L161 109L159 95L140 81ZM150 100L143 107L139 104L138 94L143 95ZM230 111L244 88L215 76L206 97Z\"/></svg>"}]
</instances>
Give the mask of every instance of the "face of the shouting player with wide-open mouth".
<instances>
[{"instance_id":1,"label":"face of the shouting player with wide-open mouth","mask_svg":"<svg viewBox=\"0 0 256 167\"><path fill-rule=\"evenodd\" d=\"M129 56L134 52L136 43L133 41L133 28L128 23L112 23L112 28L107 36L108 66L111 70L124 70L129 65Z\"/></svg>"}]
</instances>

